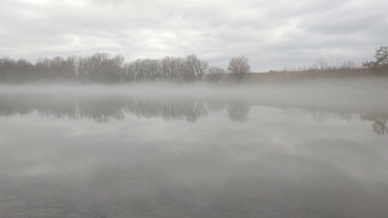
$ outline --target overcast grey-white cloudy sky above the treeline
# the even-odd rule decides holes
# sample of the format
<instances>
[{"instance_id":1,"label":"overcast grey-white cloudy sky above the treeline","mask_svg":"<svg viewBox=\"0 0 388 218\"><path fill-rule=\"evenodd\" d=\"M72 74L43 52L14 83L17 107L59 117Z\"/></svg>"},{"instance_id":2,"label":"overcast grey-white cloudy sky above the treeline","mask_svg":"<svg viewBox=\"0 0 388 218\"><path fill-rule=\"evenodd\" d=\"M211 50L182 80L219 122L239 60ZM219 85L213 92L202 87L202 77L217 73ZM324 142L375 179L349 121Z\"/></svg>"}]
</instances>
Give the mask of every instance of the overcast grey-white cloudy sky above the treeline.
<instances>
[{"instance_id":1,"label":"overcast grey-white cloudy sky above the treeline","mask_svg":"<svg viewBox=\"0 0 388 218\"><path fill-rule=\"evenodd\" d=\"M388 45L386 0L1 0L0 56L137 58L197 54L253 71L371 60Z\"/></svg>"}]
</instances>

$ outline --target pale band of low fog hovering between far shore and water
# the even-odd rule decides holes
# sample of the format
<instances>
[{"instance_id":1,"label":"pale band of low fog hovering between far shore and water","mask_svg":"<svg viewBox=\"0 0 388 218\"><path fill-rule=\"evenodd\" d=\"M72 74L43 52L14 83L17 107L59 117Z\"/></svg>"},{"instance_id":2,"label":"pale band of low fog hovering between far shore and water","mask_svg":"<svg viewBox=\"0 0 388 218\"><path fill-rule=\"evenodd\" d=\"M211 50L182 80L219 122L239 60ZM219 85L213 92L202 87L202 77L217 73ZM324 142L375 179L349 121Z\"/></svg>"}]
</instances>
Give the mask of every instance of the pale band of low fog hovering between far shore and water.
<instances>
[{"instance_id":1,"label":"pale band of low fog hovering between far shore and water","mask_svg":"<svg viewBox=\"0 0 388 218\"><path fill-rule=\"evenodd\" d=\"M2 85L0 93L2 95L50 95L58 98L129 96L217 99L263 106L385 112L388 108L387 82L386 77L371 77L346 80L308 80L272 85L209 85L206 83Z\"/></svg>"}]
</instances>

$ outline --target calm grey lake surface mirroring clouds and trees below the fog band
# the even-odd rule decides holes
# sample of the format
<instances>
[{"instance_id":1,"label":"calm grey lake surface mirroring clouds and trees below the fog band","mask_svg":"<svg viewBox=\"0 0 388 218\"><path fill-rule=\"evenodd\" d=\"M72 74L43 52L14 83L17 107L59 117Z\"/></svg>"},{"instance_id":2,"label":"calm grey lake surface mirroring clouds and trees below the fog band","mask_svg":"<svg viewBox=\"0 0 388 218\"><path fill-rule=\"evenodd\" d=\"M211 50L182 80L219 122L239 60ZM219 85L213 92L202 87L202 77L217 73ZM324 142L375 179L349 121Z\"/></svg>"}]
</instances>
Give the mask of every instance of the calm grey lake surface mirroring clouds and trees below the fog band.
<instances>
[{"instance_id":1,"label":"calm grey lake surface mirroring clouds and trees below the fog band","mask_svg":"<svg viewBox=\"0 0 388 218\"><path fill-rule=\"evenodd\" d=\"M3 90L0 217L388 215L381 107L89 94Z\"/></svg>"}]
</instances>

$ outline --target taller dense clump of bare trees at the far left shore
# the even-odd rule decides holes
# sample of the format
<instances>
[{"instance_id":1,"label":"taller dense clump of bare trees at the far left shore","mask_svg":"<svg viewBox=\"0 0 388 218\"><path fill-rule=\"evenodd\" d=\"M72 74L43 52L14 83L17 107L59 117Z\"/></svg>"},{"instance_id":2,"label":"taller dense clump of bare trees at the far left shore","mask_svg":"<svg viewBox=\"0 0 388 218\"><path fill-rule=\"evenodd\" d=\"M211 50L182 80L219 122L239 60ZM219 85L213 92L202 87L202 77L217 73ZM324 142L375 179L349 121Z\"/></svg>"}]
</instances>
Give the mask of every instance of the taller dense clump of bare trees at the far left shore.
<instances>
[{"instance_id":1,"label":"taller dense clump of bare trees at the far left shore","mask_svg":"<svg viewBox=\"0 0 388 218\"><path fill-rule=\"evenodd\" d=\"M118 82L124 57L97 52L87 57L39 58L36 64L25 59L0 59L0 82L92 81Z\"/></svg>"}]
</instances>

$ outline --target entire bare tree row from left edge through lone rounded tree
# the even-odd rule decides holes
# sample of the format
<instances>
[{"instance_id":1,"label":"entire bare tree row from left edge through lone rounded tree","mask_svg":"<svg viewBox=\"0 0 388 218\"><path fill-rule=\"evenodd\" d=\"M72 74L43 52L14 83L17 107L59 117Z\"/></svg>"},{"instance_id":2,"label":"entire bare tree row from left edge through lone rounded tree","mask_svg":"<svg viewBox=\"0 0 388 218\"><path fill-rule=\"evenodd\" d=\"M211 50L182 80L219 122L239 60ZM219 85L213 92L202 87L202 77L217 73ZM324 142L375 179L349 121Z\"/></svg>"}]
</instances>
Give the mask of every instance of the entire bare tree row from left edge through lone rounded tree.
<instances>
[{"instance_id":1,"label":"entire bare tree row from left edge through lone rounded tree","mask_svg":"<svg viewBox=\"0 0 388 218\"><path fill-rule=\"evenodd\" d=\"M212 82L220 80L225 73L232 73L237 80L250 72L249 60L244 55L230 60L227 70L209 67L209 62L191 54L187 57L162 59L137 59L124 63L122 55L113 56L97 52L90 56L56 56L39 58L36 64L25 59L15 61L8 57L0 59L0 82L29 81L82 81L116 83L173 80L192 82L202 80L204 74Z\"/></svg>"}]
</instances>

